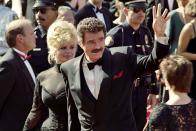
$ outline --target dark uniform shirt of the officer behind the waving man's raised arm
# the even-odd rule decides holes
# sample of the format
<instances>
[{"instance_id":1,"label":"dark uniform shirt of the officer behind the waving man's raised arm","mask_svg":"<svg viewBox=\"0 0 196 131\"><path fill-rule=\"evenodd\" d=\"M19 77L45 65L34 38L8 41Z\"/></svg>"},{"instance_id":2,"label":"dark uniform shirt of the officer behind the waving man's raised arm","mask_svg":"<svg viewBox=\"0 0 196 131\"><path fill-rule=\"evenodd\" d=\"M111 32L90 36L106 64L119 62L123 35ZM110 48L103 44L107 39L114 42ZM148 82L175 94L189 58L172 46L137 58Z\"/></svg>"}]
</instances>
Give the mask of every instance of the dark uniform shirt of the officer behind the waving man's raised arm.
<instances>
[{"instance_id":1,"label":"dark uniform shirt of the officer behind the waving man's raised arm","mask_svg":"<svg viewBox=\"0 0 196 131\"><path fill-rule=\"evenodd\" d=\"M138 54L149 54L153 48L152 35L144 25L141 25L138 30L134 30L125 22L111 29L107 33L106 40L108 38L112 40L112 43L106 41L106 46L131 46Z\"/></svg>"}]
</instances>

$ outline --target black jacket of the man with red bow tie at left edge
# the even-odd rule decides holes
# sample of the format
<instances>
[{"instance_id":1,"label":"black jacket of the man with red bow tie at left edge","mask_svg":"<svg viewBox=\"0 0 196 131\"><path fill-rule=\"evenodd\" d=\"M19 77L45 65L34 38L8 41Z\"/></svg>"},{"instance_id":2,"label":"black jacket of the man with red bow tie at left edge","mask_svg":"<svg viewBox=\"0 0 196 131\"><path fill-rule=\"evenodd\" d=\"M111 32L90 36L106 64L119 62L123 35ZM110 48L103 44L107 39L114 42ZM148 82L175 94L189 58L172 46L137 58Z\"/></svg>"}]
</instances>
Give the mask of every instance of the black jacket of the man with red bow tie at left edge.
<instances>
[{"instance_id":1,"label":"black jacket of the man with red bow tie at left edge","mask_svg":"<svg viewBox=\"0 0 196 131\"><path fill-rule=\"evenodd\" d=\"M33 102L33 79L19 55L0 59L0 131L21 131Z\"/></svg>"}]
</instances>

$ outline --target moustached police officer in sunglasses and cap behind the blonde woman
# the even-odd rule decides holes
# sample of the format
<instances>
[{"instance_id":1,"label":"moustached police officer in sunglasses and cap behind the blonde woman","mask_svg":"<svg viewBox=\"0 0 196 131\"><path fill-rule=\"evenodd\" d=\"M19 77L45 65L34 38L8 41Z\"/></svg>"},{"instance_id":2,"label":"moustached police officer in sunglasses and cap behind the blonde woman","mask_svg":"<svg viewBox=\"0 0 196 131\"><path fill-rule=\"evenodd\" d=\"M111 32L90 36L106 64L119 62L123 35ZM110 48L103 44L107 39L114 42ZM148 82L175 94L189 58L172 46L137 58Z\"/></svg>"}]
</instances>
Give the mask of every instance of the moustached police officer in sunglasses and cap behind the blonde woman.
<instances>
[{"instance_id":1,"label":"moustached police officer in sunglasses and cap behind the blonde woman","mask_svg":"<svg viewBox=\"0 0 196 131\"><path fill-rule=\"evenodd\" d=\"M49 26L58 16L58 7L63 4L64 0L36 0L33 6L38 26L34 30L37 35L36 48L29 52L32 56L29 62L36 75L50 67L48 63L46 33Z\"/></svg>"}]
</instances>

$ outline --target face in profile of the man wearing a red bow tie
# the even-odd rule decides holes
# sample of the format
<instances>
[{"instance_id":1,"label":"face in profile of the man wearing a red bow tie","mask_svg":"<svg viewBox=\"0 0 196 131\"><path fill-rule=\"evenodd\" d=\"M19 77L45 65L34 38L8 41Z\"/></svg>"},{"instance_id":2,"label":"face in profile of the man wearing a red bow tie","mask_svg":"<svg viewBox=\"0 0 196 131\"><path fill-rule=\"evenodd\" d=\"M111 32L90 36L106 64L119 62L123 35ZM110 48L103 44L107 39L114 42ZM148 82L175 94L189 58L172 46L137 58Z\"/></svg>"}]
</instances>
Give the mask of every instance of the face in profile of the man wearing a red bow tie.
<instances>
[{"instance_id":1,"label":"face in profile of the man wearing a red bow tie","mask_svg":"<svg viewBox=\"0 0 196 131\"><path fill-rule=\"evenodd\" d=\"M32 25L26 25L24 27L23 46L27 52L36 47L35 39L36 39L36 35L33 32Z\"/></svg>"}]
</instances>

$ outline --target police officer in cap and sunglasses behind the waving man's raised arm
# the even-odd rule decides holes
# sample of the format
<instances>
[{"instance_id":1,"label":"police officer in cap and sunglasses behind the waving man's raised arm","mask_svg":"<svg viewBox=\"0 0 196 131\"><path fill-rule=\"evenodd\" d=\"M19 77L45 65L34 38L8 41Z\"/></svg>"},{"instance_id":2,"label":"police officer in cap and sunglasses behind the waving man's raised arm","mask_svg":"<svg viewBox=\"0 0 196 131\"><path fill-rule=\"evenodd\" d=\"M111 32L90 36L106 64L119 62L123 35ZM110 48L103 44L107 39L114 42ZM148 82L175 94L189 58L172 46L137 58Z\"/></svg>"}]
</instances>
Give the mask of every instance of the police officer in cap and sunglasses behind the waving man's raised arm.
<instances>
[{"instance_id":1,"label":"police officer in cap and sunglasses behind the waving man's raised arm","mask_svg":"<svg viewBox=\"0 0 196 131\"><path fill-rule=\"evenodd\" d=\"M153 38L149 29L143 25L147 4L145 0L125 2L125 23L118 25L107 33L106 46L131 46L137 54L149 54L153 48ZM153 79L152 79L153 78ZM147 88L150 87L149 98L156 103L158 91L155 86L155 74L143 75L135 80L133 90L133 113L138 131L142 131L146 123ZM152 80L154 80L152 82ZM145 87L145 88L144 88Z\"/></svg>"}]
</instances>

